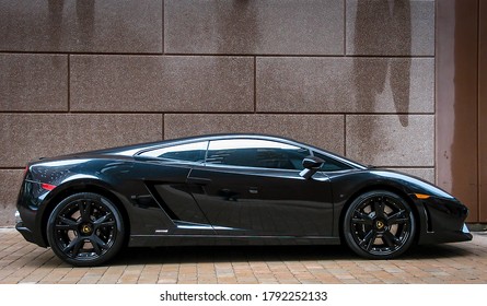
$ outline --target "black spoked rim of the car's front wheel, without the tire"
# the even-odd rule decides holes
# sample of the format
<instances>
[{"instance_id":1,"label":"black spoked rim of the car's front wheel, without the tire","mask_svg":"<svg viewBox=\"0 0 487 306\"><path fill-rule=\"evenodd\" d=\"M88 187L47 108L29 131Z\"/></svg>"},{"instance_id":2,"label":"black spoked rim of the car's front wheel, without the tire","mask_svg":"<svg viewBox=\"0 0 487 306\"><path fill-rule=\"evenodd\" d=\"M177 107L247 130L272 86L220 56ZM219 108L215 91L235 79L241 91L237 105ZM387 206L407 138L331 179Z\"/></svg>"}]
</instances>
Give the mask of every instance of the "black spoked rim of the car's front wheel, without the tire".
<instances>
[{"instance_id":1,"label":"black spoked rim of the car's front wheel, without the tire","mask_svg":"<svg viewBox=\"0 0 487 306\"><path fill-rule=\"evenodd\" d=\"M413 221L407 207L390 196L372 196L353 210L351 235L359 248L375 256L398 251L411 235Z\"/></svg>"}]
</instances>

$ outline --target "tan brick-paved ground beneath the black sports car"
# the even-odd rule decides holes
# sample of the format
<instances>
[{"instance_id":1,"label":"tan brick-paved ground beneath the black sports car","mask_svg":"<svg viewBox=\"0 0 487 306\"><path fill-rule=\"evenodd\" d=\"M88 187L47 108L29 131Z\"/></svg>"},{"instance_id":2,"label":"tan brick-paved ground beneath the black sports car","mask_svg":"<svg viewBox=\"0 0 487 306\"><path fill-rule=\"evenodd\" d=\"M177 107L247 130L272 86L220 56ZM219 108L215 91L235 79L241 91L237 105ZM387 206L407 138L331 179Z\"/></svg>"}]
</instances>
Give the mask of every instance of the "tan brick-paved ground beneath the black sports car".
<instances>
[{"instance_id":1,"label":"tan brick-paved ground beneath the black sports car","mask_svg":"<svg viewBox=\"0 0 487 306\"><path fill-rule=\"evenodd\" d=\"M126 249L109 266L72 268L50 249L0 228L0 283L487 283L487 233L416 247L399 260L363 260L345 247Z\"/></svg>"}]
</instances>

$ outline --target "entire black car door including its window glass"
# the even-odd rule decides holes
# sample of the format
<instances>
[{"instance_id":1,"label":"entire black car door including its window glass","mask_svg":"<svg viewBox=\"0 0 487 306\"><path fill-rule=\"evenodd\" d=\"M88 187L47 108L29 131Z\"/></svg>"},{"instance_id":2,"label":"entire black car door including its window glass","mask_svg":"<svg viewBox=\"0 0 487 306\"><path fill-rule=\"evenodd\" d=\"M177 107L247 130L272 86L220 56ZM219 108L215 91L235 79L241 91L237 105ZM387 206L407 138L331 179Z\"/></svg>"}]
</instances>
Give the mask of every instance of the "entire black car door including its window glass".
<instances>
[{"instance_id":1,"label":"entire black car door including its window glass","mask_svg":"<svg viewBox=\"0 0 487 306\"><path fill-rule=\"evenodd\" d=\"M260 139L210 141L189 188L218 235L331 236L326 175L299 175L308 149Z\"/></svg>"}]
</instances>

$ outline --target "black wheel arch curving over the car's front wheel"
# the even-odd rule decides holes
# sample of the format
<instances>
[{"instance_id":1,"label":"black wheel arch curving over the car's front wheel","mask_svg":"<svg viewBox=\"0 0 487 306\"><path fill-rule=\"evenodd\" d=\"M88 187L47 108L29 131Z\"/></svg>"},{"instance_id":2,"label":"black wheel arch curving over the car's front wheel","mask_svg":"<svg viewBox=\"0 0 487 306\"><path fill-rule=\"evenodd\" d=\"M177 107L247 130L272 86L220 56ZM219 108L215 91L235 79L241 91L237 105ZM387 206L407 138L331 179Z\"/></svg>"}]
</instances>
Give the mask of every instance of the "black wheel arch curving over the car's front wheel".
<instances>
[{"instance_id":1,"label":"black wheel arch curving over the car's front wheel","mask_svg":"<svg viewBox=\"0 0 487 306\"><path fill-rule=\"evenodd\" d=\"M339 233L339 237L340 240L344 242L344 222L345 222L345 214L347 213L348 208L351 205L351 203L361 195L369 192L369 191L374 191L374 190L384 190L384 191L390 191L393 192L395 195L397 195L398 197L401 197L403 200L406 201L406 203L410 207L411 211L413 211L413 215L414 217L417 220L416 222L416 234L415 237L413 238L413 243L417 244L419 240L419 235L421 233L421 217L419 215L419 208L416 205L416 203L413 201L413 199L407 195L407 192L398 187L395 186L391 186L387 184L378 184L378 185L371 185L371 186L367 186L363 188L360 188L358 190L356 190L351 197L348 198L348 200L345 202L344 207L341 208L340 211L340 216L339 216L339 224L338 224L338 233Z\"/></svg>"}]
</instances>

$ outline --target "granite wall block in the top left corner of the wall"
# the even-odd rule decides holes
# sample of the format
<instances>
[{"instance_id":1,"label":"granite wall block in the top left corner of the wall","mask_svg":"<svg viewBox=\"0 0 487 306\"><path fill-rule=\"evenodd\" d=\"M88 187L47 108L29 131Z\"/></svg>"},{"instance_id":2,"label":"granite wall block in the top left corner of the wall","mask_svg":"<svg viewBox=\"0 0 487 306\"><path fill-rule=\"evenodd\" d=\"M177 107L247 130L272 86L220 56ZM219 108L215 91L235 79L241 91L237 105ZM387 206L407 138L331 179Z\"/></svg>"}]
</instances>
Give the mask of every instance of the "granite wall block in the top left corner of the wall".
<instances>
[{"instance_id":1,"label":"granite wall block in the top left corner of the wall","mask_svg":"<svg viewBox=\"0 0 487 306\"><path fill-rule=\"evenodd\" d=\"M162 52L162 0L0 0L0 50Z\"/></svg>"}]
</instances>

